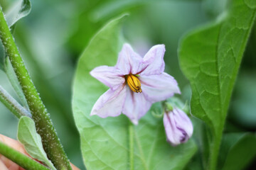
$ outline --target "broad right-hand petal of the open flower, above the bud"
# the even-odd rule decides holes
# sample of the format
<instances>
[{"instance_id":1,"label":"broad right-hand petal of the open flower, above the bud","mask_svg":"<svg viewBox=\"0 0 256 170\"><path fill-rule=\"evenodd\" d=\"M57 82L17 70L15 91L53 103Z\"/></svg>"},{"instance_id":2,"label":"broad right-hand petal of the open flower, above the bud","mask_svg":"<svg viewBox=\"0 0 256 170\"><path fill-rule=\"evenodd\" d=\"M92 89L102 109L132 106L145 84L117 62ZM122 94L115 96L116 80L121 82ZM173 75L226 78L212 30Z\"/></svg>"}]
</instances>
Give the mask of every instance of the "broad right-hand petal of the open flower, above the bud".
<instances>
[{"instance_id":1,"label":"broad right-hand petal of the open flower, above the bud","mask_svg":"<svg viewBox=\"0 0 256 170\"><path fill-rule=\"evenodd\" d=\"M181 93L174 77L165 72L150 76L142 75L139 77L139 81L142 84L142 93L152 103L164 101L174 94Z\"/></svg>"}]
</instances>

